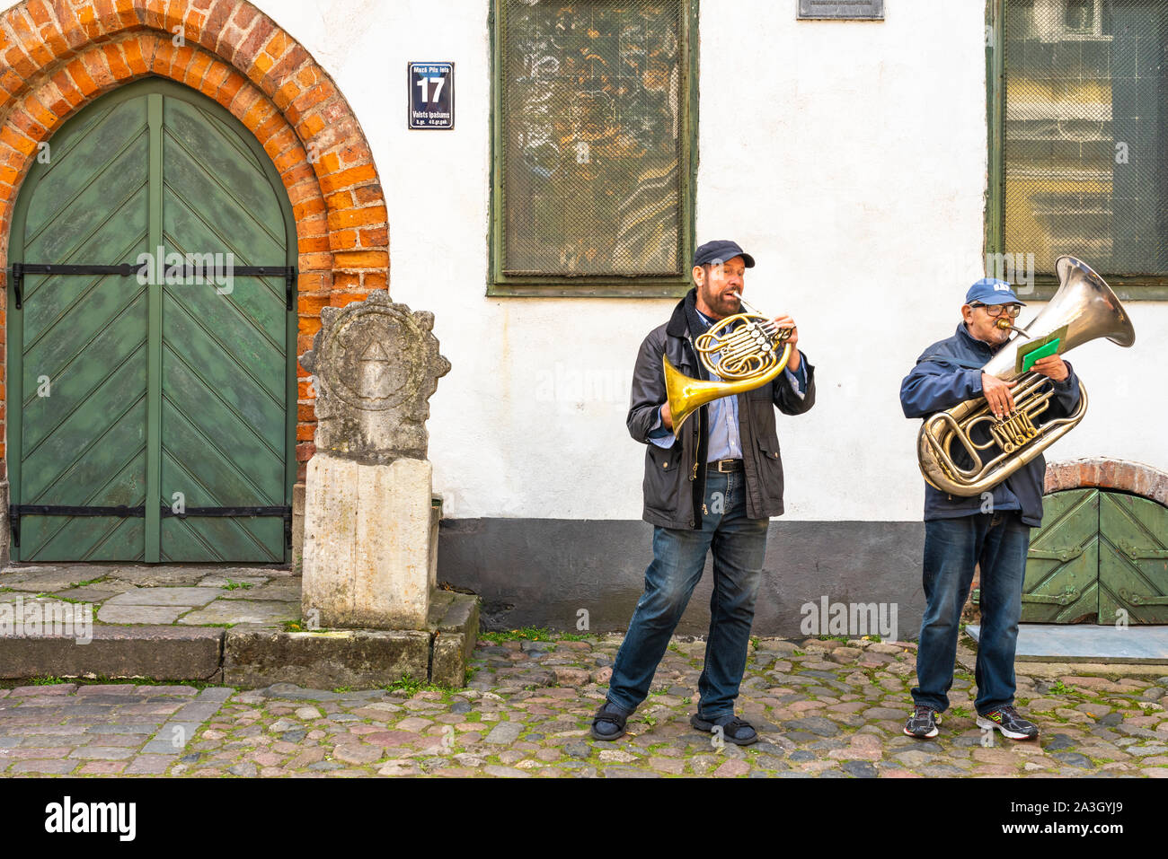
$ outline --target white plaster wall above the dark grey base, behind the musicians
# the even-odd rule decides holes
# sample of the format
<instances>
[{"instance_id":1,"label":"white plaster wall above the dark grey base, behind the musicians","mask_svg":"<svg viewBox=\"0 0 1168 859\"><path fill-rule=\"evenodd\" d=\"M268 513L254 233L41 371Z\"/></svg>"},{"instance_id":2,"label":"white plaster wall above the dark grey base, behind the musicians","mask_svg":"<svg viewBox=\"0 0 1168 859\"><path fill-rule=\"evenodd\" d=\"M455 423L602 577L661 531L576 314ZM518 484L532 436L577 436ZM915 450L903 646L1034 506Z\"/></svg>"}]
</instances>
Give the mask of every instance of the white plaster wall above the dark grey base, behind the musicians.
<instances>
[{"instance_id":1,"label":"white plaster wall above the dark grey base, behind the musicians","mask_svg":"<svg viewBox=\"0 0 1168 859\"><path fill-rule=\"evenodd\" d=\"M638 518L628 379L674 301L485 296L487 0L260 5L353 105L389 204L390 293L437 315L453 364L430 420L445 514ZM790 312L816 368L816 406L780 415L786 518L916 519L919 421L898 390L981 277L985 4L891 0L883 22L797 21L794 6L702 2L697 240L757 257L748 299ZM408 61L456 63L454 131L406 131ZM1129 310L1133 349L1072 354L1091 411L1049 459L1168 469L1168 303Z\"/></svg>"}]
</instances>

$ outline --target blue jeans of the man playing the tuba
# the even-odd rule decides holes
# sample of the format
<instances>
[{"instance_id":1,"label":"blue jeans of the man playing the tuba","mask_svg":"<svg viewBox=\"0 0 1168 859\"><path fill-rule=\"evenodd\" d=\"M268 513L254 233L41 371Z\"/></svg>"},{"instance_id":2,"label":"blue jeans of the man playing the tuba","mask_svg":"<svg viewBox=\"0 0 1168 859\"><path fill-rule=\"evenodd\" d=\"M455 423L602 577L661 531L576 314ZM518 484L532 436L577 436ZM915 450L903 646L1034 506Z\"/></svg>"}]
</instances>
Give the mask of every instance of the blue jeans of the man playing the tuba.
<instances>
[{"instance_id":1,"label":"blue jeans of the man playing the tuba","mask_svg":"<svg viewBox=\"0 0 1168 859\"><path fill-rule=\"evenodd\" d=\"M925 523L924 587L917 683L912 700L941 712L948 707L961 607L974 564L981 566L981 635L974 676L979 714L1014 703L1014 652L1022 616L1030 526L1016 510L973 514Z\"/></svg>"}]
</instances>

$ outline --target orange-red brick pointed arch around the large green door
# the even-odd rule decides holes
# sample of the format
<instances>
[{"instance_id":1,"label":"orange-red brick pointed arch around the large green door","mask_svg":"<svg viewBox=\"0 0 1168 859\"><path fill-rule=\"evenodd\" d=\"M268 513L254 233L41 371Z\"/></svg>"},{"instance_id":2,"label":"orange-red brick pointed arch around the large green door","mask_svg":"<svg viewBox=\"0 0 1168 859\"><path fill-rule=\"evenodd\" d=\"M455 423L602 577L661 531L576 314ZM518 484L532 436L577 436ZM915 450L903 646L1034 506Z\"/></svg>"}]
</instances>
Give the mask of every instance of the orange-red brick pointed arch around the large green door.
<instances>
[{"instance_id":1,"label":"orange-red brick pointed arch around the large green door","mask_svg":"<svg viewBox=\"0 0 1168 859\"><path fill-rule=\"evenodd\" d=\"M0 14L0 265L37 145L98 96L151 75L218 102L279 170L297 222L303 355L321 307L385 288L385 198L364 133L332 78L244 0L26 0ZM0 361L4 322L0 313ZM297 371L303 480L315 415L307 373Z\"/></svg>"}]
</instances>

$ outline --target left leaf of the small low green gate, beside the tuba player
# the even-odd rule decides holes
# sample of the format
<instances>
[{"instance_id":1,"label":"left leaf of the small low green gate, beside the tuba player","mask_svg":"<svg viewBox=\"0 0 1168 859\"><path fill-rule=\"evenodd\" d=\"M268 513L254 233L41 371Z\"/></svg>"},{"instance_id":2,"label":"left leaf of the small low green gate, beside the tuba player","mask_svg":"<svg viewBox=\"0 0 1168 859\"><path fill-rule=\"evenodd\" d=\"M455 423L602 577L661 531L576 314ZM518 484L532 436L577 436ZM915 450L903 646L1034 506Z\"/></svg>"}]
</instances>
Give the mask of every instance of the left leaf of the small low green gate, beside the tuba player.
<instances>
[{"instance_id":1,"label":"left leaf of the small low green gate, beside the tuba player","mask_svg":"<svg viewBox=\"0 0 1168 859\"><path fill-rule=\"evenodd\" d=\"M1077 623L1099 609L1099 490L1043 498L1043 525L1030 536L1022 621Z\"/></svg>"}]
</instances>

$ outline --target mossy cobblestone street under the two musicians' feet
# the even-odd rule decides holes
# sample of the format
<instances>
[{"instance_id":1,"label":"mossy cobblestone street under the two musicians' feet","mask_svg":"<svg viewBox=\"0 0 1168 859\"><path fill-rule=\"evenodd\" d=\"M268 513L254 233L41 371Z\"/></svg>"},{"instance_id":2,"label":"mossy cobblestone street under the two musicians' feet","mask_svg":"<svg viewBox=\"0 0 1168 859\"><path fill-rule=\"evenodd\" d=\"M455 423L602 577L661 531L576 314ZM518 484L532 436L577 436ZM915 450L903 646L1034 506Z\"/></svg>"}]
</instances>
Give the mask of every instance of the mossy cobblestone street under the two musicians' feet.
<instances>
[{"instance_id":1,"label":"mossy cobblestone street under the two musicians' feet","mask_svg":"<svg viewBox=\"0 0 1168 859\"><path fill-rule=\"evenodd\" d=\"M589 736L616 635L480 641L461 691L263 690L70 683L0 690L6 775L171 776L1168 776L1168 678L1018 677L1038 743L974 725L959 671L936 740L902 734L913 645L756 640L739 713L716 748L694 731L702 641L674 640L616 742Z\"/></svg>"}]
</instances>

